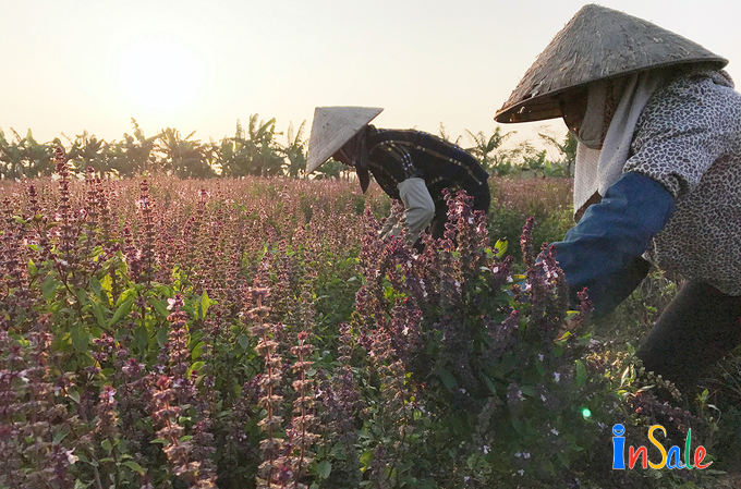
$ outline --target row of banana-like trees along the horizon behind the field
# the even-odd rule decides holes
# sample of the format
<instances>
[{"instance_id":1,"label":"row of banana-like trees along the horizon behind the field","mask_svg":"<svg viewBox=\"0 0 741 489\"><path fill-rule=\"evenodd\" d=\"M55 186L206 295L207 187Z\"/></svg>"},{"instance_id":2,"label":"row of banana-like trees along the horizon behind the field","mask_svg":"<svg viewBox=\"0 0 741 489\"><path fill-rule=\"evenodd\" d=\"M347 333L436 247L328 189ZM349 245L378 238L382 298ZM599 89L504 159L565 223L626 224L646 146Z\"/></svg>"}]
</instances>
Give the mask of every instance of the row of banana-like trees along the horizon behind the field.
<instances>
[{"instance_id":1,"label":"row of banana-like trees along the horizon behind the field","mask_svg":"<svg viewBox=\"0 0 741 489\"><path fill-rule=\"evenodd\" d=\"M0 178L17 180L51 175L54 170L52 155L57 147L65 150L71 171L82 174L92 169L100 176L129 178L141 174L163 173L181 179L215 176L290 176L305 178L308 140L304 138L306 121L294 129L289 124L286 133L278 132L276 119L264 121L258 114L250 117L245 126L236 122L234 136L203 143L167 127L147 137L132 119L132 134L120 140L106 142L87 133L74 138L62 135L48 143L37 142L31 130L25 137L11 129L10 136L0 129ZM463 146L476 157L493 175L532 174L539 176L571 176L575 161L576 142L570 135L557 138L539 134L542 146L552 151L537 149L531 142L513 147L503 143L513 132L503 133L496 127L491 135L466 131L470 145ZM450 140L440 125L439 136ZM555 155L555 156L554 156ZM330 160L313 175L316 179L337 179L348 174L348 168Z\"/></svg>"}]
</instances>

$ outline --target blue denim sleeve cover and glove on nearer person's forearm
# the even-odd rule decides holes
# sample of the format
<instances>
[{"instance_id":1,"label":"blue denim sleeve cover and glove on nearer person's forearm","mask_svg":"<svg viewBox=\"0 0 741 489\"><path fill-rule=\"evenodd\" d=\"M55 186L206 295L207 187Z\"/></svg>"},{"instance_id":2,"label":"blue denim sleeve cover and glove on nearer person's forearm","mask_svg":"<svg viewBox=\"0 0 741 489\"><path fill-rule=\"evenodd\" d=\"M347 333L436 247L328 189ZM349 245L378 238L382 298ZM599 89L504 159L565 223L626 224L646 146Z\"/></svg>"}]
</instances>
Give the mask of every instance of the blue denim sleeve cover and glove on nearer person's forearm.
<instances>
[{"instance_id":1,"label":"blue denim sleeve cover and glove on nearer person's forearm","mask_svg":"<svg viewBox=\"0 0 741 489\"><path fill-rule=\"evenodd\" d=\"M596 315L624 301L648 272L641 255L673 211L675 198L660 183L636 172L623 174L562 242L554 243L572 301L585 286Z\"/></svg>"}]
</instances>

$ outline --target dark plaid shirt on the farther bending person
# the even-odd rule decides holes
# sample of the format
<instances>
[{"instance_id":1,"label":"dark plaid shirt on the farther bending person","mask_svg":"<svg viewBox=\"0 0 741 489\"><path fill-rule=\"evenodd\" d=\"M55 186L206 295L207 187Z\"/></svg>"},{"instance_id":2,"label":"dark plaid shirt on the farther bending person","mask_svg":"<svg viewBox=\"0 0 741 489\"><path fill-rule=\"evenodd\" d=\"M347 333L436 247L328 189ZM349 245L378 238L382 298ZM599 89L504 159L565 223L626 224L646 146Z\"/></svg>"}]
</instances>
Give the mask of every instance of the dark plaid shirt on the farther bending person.
<instances>
[{"instance_id":1,"label":"dark plaid shirt on the farther bending person","mask_svg":"<svg viewBox=\"0 0 741 489\"><path fill-rule=\"evenodd\" d=\"M421 131L368 126L369 170L391 198L399 198L399 182L424 179L436 211L446 211L444 188L465 190L474 208L488 209L488 173L463 148ZM484 201L485 200L485 201Z\"/></svg>"}]
</instances>

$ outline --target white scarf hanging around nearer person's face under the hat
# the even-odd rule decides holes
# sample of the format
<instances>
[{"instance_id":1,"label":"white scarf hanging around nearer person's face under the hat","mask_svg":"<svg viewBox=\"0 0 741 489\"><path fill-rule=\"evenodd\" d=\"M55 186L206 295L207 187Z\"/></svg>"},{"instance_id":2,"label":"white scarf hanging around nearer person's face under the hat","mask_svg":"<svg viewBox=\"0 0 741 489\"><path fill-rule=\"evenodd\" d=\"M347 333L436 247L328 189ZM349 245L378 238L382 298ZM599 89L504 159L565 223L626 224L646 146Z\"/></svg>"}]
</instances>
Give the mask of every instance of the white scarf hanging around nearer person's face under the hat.
<instances>
[{"instance_id":1,"label":"white scarf hanging around nearer person's face under the hat","mask_svg":"<svg viewBox=\"0 0 741 489\"><path fill-rule=\"evenodd\" d=\"M603 133L603 121L608 110L605 87L602 82L595 84L587 93L584 131L580 130L576 146L576 167L574 170L574 215L581 215L583 207L591 204L595 193L604 196L615 182L620 179L622 169L630 157L630 145L633 140L635 124L646 102L663 80L657 71L633 74L625 78L620 101L609 121L602 149L595 145L594 134ZM593 127L593 130L591 129ZM590 148L588 146L592 148Z\"/></svg>"}]
</instances>

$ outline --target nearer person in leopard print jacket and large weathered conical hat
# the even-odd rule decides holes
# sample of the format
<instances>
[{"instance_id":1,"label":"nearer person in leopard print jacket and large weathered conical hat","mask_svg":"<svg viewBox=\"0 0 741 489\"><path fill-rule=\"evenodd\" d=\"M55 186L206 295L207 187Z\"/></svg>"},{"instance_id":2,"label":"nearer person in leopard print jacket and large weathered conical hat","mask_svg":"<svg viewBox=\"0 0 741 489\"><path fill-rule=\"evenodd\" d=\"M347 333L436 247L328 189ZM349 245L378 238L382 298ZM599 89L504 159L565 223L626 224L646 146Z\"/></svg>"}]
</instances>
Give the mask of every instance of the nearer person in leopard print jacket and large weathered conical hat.
<instances>
[{"instance_id":1,"label":"nearer person in leopard print jacket and large weathered conical hat","mask_svg":"<svg viewBox=\"0 0 741 489\"><path fill-rule=\"evenodd\" d=\"M498 122L562 118L579 140L578 224L555 243L597 314L649 262L685 283L639 357L693 387L741 341L741 95L727 60L649 22L586 5L527 70Z\"/></svg>"}]
</instances>

